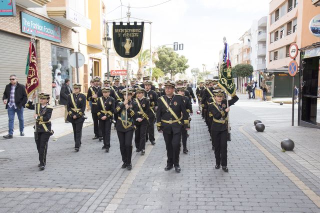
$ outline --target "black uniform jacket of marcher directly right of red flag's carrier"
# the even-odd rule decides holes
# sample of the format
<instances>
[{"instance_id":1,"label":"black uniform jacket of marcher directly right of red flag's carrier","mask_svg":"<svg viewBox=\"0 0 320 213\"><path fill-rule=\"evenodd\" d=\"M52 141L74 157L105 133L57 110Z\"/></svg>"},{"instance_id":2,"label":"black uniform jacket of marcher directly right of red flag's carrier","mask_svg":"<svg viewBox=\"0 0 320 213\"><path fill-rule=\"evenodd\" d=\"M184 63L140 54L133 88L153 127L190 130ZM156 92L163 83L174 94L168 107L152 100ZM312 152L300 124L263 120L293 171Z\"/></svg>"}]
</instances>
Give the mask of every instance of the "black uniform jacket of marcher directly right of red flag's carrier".
<instances>
[{"instance_id":1,"label":"black uniform jacket of marcher directly right of red flag's carrier","mask_svg":"<svg viewBox=\"0 0 320 213\"><path fill-rule=\"evenodd\" d=\"M70 123L79 123L84 121L84 110L86 106L85 94L79 93L75 95L71 93L68 95L66 100L66 109L68 111L68 116L66 120ZM73 119L73 115L76 116Z\"/></svg>"}]
</instances>

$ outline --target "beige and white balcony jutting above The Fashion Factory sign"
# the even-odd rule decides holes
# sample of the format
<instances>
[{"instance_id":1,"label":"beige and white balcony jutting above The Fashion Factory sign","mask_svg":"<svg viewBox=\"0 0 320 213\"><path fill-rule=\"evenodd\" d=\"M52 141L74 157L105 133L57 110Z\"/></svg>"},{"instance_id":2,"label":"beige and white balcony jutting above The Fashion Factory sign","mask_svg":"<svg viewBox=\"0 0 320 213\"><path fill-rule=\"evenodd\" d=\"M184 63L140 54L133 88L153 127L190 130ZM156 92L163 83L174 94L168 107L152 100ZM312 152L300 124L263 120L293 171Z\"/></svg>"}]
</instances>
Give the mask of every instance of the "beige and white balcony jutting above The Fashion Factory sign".
<instances>
[{"instance_id":1,"label":"beige and white balcony jutting above The Fashion Factory sign","mask_svg":"<svg viewBox=\"0 0 320 213\"><path fill-rule=\"evenodd\" d=\"M76 11L67 0L54 0L46 5L48 16L67 26L91 28L91 20Z\"/></svg>"}]
</instances>

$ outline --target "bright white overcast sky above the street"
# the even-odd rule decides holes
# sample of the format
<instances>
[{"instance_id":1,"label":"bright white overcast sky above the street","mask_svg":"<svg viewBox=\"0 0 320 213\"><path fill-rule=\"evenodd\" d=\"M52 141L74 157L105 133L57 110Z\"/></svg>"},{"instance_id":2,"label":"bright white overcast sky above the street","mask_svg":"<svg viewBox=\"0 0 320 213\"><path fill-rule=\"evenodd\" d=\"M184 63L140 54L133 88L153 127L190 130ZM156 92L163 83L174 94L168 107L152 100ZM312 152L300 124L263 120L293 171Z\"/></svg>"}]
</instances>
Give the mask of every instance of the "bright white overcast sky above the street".
<instances>
[{"instance_id":1,"label":"bright white overcast sky above the street","mask_svg":"<svg viewBox=\"0 0 320 213\"><path fill-rule=\"evenodd\" d=\"M127 5L146 7L167 0L104 1L106 19L113 20L122 16L124 22L127 20ZM122 7L119 6L121 2L124 5ZM139 21L134 18L140 18L152 22L152 49L173 42L183 43L183 50L177 53L188 58L189 72L192 68L201 70L202 64L210 69L218 63L223 36L229 45L240 42L238 39L251 27L252 20L268 15L269 2L270 0L169 0L153 7L130 8L130 21ZM143 49L149 49L149 28L149 24L145 24Z\"/></svg>"}]
</instances>

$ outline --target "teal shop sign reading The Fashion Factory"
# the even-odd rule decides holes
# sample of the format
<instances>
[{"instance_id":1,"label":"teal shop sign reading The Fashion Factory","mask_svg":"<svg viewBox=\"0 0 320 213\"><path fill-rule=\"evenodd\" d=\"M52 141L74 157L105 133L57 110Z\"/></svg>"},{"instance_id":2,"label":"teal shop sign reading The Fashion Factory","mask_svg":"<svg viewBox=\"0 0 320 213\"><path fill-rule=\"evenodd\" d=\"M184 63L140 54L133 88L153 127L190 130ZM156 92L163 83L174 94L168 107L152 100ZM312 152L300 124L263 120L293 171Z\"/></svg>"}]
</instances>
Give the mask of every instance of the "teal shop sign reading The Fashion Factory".
<instances>
[{"instance_id":1,"label":"teal shop sign reading The Fashion Factory","mask_svg":"<svg viewBox=\"0 0 320 213\"><path fill-rule=\"evenodd\" d=\"M27 34L61 43L61 27L25 12L21 12L21 30Z\"/></svg>"}]
</instances>

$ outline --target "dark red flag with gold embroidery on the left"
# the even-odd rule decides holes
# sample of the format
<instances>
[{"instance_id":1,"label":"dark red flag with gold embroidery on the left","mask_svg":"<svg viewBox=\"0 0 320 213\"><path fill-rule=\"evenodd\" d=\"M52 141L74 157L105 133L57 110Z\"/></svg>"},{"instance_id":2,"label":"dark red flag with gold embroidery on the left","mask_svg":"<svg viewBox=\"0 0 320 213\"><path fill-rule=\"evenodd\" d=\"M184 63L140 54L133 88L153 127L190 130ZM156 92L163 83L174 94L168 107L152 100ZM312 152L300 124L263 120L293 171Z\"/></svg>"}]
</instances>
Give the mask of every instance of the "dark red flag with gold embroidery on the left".
<instances>
[{"instance_id":1,"label":"dark red flag with gold embroidery on the left","mask_svg":"<svg viewBox=\"0 0 320 213\"><path fill-rule=\"evenodd\" d=\"M38 64L36 62L35 46L32 42L29 44L28 57L25 67L26 83L25 90L27 96L39 86Z\"/></svg>"}]
</instances>

